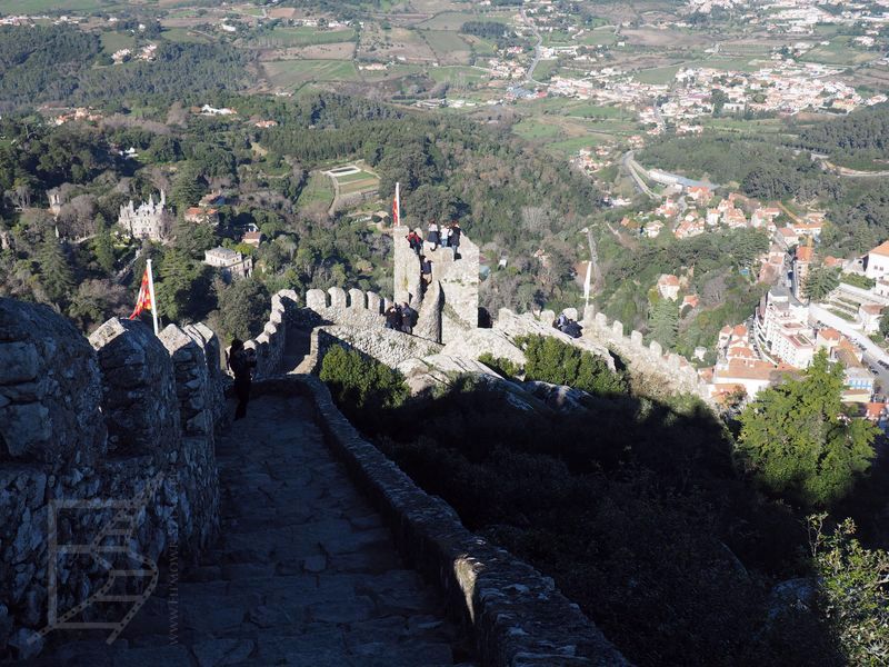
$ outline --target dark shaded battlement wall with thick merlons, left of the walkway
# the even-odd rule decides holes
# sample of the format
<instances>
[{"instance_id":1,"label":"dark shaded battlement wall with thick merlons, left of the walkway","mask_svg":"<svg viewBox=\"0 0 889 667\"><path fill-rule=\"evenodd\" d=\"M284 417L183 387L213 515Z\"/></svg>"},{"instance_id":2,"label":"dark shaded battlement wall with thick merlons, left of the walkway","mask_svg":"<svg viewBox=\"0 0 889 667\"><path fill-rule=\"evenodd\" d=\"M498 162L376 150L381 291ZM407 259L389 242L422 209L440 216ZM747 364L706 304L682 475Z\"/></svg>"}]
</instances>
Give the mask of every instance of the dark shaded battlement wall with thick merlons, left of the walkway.
<instances>
[{"instance_id":1,"label":"dark shaded battlement wall with thick merlons, left of the walkway","mask_svg":"<svg viewBox=\"0 0 889 667\"><path fill-rule=\"evenodd\" d=\"M90 545L123 527L154 565L172 545L194 558L210 542L218 360L201 325L156 338L114 318L88 340L46 306L0 299L0 658L40 649L42 639L29 638L47 627L51 598L61 615L109 581L93 555L50 551L50 516L58 545ZM112 521L114 502L132 502L123 526ZM101 607L112 620L126 614ZM78 620L100 613L90 606Z\"/></svg>"}]
</instances>

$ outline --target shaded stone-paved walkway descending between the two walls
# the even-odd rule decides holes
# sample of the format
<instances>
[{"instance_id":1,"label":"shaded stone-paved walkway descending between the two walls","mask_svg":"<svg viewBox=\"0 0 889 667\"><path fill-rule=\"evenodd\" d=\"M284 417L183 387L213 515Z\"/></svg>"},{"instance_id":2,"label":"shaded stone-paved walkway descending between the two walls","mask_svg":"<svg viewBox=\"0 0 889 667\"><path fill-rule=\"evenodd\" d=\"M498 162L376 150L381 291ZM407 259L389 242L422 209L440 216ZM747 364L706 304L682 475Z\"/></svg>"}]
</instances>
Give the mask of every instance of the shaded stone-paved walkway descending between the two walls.
<instances>
[{"instance_id":1,"label":"shaded stone-paved walkway descending between the two walls","mask_svg":"<svg viewBox=\"0 0 889 667\"><path fill-rule=\"evenodd\" d=\"M110 647L97 633L39 664L413 667L470 659L442 599L404 569L379 515L332 459L307 399L256 400L217 444L217 459L221 537L200 567L183 573L178 608L161 583Z\"/></svg>"}]
</instances>

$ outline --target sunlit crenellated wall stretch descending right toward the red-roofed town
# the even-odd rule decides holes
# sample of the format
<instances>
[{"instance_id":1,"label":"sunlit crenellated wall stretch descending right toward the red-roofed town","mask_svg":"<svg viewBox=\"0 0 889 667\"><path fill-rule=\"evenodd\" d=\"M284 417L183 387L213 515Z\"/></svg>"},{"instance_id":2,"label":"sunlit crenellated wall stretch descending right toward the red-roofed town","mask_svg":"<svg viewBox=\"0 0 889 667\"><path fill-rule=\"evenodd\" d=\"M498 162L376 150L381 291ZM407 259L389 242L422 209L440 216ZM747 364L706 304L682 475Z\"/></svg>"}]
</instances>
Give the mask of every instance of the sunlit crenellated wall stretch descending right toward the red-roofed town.
<instances>
[{"instance_id":1,"label":"sunlit crenellated wall stretch descending right toward the red-roofed town","mask_svg":"<svg viewBox=\"0 0 889 667\"><path fill-rule=\"evenodd\" d=\"M583 337L612 348L633 372L655 376L670 391L693 394L707 404L712 402L709 386L688 359L673 352L665 354L656 340L646 345L640 331L625 335L622 322L609 322L593 306L588 306L583 312Z\"/></svg>"}]
</instances>

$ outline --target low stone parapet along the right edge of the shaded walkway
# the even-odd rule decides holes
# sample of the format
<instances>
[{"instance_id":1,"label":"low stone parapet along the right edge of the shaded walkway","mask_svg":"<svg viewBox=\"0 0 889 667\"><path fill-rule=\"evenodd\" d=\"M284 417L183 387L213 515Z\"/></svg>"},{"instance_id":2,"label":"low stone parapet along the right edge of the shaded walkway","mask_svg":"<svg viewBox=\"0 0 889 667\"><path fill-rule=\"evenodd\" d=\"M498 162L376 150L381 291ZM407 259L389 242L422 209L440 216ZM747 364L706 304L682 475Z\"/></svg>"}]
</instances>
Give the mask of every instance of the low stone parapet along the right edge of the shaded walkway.
<instances>
[{"instance_id":1,"label":"low stone parapet along the right edge of the shaded walkway","mask_svg":"<svg viewBox=\"0 0 889 667\"><path fill-rule=\"evenodd\" d=\"M383 514L408 563L444 590L451 611L471 629L483 665L627 665L552 579L467 530L448 504L419 489L364 440L323 382L290 376L257 390L312 398L330 447Z\"/></svg>"}]
</instances>

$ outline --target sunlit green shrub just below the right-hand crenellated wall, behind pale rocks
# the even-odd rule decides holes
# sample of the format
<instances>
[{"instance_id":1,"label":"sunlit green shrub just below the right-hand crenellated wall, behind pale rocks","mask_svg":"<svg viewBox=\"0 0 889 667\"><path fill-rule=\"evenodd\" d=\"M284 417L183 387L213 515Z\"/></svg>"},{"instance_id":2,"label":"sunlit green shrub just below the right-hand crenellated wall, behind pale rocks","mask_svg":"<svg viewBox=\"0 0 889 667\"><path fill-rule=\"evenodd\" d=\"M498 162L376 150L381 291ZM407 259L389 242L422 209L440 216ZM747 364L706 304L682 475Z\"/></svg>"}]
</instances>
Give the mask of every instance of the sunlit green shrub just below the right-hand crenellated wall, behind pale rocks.
<instances>
[{"instance_id":1,"label":"sunlit green shrub just below the right-hand crenellated wall, behind pale rocks","mask_svg":"<svg viewBox=\"0 0 889 667\"><path fill-rule=\"evenodd\" d=\"M551 336L525 336L517 340L525 350L526 380L568 385L593 396L627 392L627 379L603 359Z\"/></svg>"}]
</instances>

